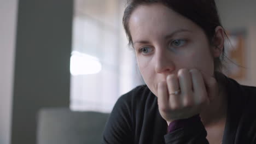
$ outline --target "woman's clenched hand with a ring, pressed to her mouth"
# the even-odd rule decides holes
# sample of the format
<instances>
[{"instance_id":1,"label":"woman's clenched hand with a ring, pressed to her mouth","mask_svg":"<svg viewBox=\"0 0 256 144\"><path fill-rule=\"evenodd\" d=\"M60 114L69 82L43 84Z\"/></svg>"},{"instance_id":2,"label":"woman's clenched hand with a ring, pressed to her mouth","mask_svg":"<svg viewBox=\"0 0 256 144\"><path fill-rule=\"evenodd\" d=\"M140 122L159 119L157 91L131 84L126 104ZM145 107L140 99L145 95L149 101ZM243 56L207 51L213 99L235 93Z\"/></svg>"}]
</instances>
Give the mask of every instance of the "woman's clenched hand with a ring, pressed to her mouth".
<instances>
[{"instance_id":1,"label":"woman's clenched hand with a ring, pressed to her mouth","mask_svg":"<svg viewBox=\"0 0 256 144\"><path fill-rule=\"evenodd\" d=\"M166 81L158 83L159 111L170 124L200 113L216 94L218 85L214 77L197 69L180 69L177 75L168 75Z\"/></svg>"}]
</instances>

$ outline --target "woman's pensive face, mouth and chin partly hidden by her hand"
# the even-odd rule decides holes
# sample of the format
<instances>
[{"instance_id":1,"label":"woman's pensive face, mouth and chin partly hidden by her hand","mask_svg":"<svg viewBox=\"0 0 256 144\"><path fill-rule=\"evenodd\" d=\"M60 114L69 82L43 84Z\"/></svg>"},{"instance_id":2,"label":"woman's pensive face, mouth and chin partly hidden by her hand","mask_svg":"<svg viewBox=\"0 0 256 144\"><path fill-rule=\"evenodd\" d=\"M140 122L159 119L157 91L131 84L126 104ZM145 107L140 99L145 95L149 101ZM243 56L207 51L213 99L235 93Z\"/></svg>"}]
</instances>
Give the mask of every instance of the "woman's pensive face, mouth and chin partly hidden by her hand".
<instances>
[{"instance_id":1,"label":"woman's pensive face, mouth and chin partly hidden by her hand","mask_svg":"<svg viewBox=\"0 0 256 144\"><path fill-rule=\"evenodd\" d=\"M162 4L149 4L133 11L129 28L139 70L156 96L158 83L179 69L213 76L213 48L193 21Z\"/></svg>"}]
</instances>

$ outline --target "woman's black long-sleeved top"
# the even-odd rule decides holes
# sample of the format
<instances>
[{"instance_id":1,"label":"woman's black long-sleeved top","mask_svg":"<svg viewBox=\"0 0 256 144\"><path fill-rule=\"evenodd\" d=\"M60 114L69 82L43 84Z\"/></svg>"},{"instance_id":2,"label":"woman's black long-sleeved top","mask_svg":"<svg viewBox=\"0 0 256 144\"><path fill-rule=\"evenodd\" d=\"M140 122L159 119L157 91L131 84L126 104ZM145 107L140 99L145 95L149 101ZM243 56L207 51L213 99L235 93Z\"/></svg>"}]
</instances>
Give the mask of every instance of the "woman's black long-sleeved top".
<instances>
[{"instance_id":1,"label":"woman's black long-sleeved top","mask_svg":"<svg viewBox=\"0 0 256 144\"><path fill-rule=\"evenodd\" d=\"M242 86L225 77L228 108L223 143L256 143L256 87ZM103 133L104 144L208 143L202 122L167 133L156 96L147 86L122 95Z\"/></svg>"}]
</instances>

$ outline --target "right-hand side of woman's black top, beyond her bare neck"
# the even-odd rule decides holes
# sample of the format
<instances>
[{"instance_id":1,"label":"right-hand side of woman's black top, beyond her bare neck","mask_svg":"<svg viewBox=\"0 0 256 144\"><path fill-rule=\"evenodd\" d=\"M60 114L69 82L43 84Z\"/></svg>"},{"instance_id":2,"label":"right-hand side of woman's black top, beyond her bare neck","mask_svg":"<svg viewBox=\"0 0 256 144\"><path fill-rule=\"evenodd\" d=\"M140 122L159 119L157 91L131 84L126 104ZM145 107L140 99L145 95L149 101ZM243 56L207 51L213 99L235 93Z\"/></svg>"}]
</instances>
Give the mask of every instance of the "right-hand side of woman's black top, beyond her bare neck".
<instances>
[{"instance_id":1,"label":"right-hand side of woman's black top, beyond her bare neck","mask_svg":"<svg viewBox=\"0 0 256 144\"><path fill-rule=\"evenodd\" d=\"M236 143L256 140L256 87L240 85L225 79L228 91L228 119L232 131L236 130Z\"/></svg>"}]
</instances>

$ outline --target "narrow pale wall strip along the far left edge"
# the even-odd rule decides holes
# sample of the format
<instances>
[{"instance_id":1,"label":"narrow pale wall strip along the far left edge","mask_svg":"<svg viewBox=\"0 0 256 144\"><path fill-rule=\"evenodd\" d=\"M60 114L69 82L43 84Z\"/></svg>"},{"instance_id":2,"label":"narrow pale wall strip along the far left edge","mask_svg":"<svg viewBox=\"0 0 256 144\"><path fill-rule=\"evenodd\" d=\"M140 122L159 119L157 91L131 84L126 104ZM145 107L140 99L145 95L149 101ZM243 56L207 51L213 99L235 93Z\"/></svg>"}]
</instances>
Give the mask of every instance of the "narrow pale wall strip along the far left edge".
<instances>
[{"instance_id":1,"label":"narrow pale wall strip along the far left edge","mask_svg":"<svg viewBox=\"0 0 256 144\"><path fill-rule=\"evenodd\" d=\"M10 143L18 0L0 0L0 143Z\"/></svg>"}]
</instances>

